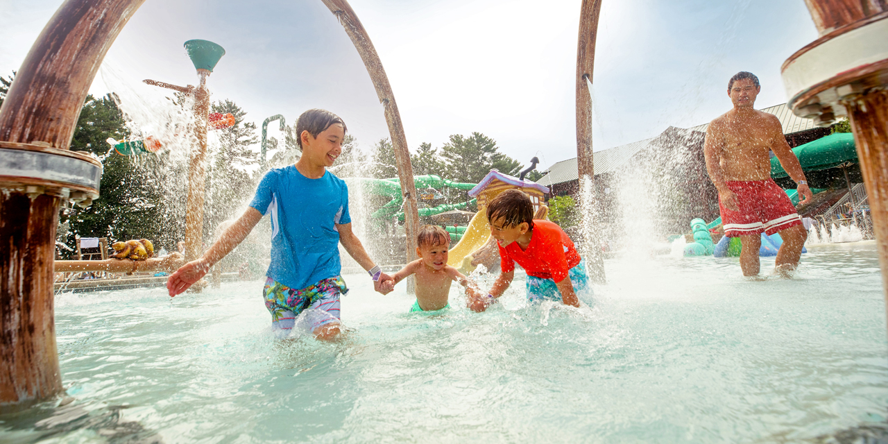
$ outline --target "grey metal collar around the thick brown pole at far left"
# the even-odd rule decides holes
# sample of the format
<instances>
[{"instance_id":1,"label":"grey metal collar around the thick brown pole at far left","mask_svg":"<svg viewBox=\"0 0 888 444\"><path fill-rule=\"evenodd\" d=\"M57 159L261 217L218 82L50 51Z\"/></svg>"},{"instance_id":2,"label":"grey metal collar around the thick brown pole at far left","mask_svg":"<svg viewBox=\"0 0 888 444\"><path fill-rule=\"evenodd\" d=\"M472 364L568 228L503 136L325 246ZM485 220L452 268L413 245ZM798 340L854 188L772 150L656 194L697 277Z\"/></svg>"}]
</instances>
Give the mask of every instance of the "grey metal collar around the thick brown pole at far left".
<instances>
[{"instance_id":1,"label":"grey metal collar around the thick brown pole at far left","mask_svg":"<svg viewBox=\"0 0 888 444\"><path fill-rule=\"evenodd\" d=\"M99 197L101 178L102 163L90 155L0 141L0 189L91 202Z\"/></svg>"}]
</instances>

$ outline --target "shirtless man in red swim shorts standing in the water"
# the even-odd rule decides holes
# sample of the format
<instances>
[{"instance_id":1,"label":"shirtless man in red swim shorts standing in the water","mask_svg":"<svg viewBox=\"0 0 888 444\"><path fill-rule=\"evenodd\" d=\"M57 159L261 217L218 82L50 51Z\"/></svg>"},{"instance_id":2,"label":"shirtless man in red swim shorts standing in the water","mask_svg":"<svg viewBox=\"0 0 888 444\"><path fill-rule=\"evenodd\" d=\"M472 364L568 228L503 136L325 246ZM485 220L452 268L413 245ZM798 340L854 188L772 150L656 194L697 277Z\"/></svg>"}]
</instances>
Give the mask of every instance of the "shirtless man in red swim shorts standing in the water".
<instances>
[{"instance_id":1,"label":"shirtless man in red swim shorts standing in the water","mask_svg":"<svg viewBox=\"0 0 888 444\"><path fill-rule=\"evenodd\" d=\"M812 194L798 158L783 137L780 120L753 108L759 91L758 78L752 73L731 77L727 94L733 109L710 123L703 153L706 170L718 189L725 236L740 237L743 246L743 275L758 274L763 232L780 233L783 245L774 266L778 273L787 275L798 266L808 234L789 197L771 178L768 151L773 151L783 170L798 184L799 203L811 199Z\"/></svg>"}]
</instances>

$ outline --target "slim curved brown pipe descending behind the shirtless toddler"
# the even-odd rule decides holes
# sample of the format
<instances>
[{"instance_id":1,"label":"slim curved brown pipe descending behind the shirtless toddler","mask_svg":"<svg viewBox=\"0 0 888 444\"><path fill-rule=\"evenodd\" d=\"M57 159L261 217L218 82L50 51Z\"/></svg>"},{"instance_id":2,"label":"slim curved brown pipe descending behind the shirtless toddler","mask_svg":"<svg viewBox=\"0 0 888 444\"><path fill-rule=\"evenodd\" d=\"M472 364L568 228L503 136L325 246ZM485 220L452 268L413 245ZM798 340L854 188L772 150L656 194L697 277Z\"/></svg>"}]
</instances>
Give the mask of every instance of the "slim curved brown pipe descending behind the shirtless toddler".
<instances>
[{"instance_id":1,"label":"slim curved brown pipe descending behind the shirtless toddler","mask_svg":"<svg viewBox=\"0 0 888 444\"><path fill-rule=\"evenodd\" d=\"M413 166L410 163L410 152L407 148L407 136L404 135L404 125L400 122L398 104L394 101L392 85L385 75L382 60L379 59L373 42L367 30L361 25L361 20L355 15L352 6L345 0L321 0L333 12L339 23L345 28L345 34L352 39L355 49L361 55L364 66L370 75L370 80L377 90L379 101L385 108L385 122L388 123L389 134L392 135L392 147L394 147L395 163L398 166L398 178L400 178L401 193L404 194L404 231L407 234L407 260L416 257L416 231L419 228L419 215L416 205L416 184L413 181ZM411 281L412 282L412 281Z\"/></svg>"}]
</instances>

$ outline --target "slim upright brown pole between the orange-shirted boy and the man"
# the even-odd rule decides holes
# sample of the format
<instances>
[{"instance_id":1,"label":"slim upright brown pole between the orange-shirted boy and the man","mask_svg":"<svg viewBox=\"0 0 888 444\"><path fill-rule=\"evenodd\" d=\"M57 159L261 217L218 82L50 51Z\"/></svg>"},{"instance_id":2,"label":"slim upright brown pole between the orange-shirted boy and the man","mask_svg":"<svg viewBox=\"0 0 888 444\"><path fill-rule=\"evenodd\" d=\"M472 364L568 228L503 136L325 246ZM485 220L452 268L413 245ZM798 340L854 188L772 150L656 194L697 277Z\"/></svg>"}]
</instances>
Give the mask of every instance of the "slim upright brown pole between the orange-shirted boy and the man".
<instances>
[{"instance_id":1,"label":"slim upright brown pole between the orange-shirted boy and the man","mask_svg":"<svg viewBox=\"0 0 888 444\"><path fill-rule=\"evenodd\" d=\"M595 225L595 165L592 163L592 72L595 66L595 38L598 36L601 0L583 0L580 30L576 42L576 165L579 170L580 209L583 212L583 258L591 280L604 283L598 227Z\"/></svg>"}]
</instances>

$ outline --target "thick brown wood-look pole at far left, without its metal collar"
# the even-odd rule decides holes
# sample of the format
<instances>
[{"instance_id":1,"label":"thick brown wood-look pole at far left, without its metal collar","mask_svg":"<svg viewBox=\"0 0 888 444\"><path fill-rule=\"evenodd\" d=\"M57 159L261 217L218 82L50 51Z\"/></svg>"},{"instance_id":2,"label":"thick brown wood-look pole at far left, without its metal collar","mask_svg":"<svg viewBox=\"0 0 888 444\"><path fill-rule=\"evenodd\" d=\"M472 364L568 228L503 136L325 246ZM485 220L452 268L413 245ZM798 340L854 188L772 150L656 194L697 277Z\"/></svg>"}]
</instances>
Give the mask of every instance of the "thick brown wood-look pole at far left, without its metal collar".
<instances>
[{"instance_id":1,"label":"thick brown wood-look pole at far left, without its metal collar","mask_svg":"<svg viewBox=\"0 0 888 444\"><path fill-rule=\"evenodd\" d=\"M67 149L93 77L144 0L67 0L0 108L0 140ZM0 405L61 392L52 306L58 197L0 194Z\"/></svg>"}]
</instances>

